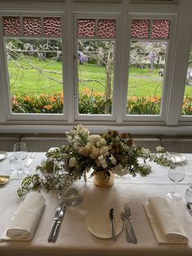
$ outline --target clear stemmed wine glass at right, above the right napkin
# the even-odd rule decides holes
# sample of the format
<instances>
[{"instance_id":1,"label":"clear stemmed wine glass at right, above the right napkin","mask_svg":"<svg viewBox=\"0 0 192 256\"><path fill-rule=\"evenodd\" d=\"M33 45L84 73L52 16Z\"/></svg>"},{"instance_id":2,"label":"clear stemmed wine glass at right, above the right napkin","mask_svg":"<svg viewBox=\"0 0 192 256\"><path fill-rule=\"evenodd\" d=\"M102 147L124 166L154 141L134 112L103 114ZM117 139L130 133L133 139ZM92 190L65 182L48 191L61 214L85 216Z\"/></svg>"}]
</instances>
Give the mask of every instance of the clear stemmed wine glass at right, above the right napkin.
<instances>
[{"instance_id":1,"label":"clear stemmed wine glass at right, above the right napkin","mask_svg":"<svg viewBox=\"0 0 192 256\"><path fill-rule=\"evenodd\" d=\"M176 192L176 184L181 182L185 177L185 166L182 162L174 163L175 169L168 170L168 178L174 183L174 189L172 192L168 192L167 196L173 201L180 201L181 195Z\"/></svg>"}]
</instances>

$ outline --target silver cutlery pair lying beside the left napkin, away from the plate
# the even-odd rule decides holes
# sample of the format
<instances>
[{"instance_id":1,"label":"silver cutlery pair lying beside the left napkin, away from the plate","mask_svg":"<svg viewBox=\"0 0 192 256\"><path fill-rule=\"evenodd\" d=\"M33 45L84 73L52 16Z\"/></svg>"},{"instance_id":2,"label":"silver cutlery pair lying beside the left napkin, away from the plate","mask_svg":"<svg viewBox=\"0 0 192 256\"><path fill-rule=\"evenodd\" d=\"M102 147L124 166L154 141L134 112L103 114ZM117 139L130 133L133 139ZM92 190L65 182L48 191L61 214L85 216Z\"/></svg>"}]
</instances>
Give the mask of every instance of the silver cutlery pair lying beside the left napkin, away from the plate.
<instances>
[{"instance_id":1,"label":"silver cutlery pair lying beside the left napkin, away from the plate","mask_svg":"<svg viewBox=\"0 0 192 256\"><path fill-rule=\"evenodd\" d=\"M63 201L59 204L58 208L55 211L54 222L52 223L52 227L50 230L50 236L48 237L48 242L55 242L57 240L59 234L59 228L62 223L64 214L65 214L66 206Z\"/></svg>"}]
</instances>

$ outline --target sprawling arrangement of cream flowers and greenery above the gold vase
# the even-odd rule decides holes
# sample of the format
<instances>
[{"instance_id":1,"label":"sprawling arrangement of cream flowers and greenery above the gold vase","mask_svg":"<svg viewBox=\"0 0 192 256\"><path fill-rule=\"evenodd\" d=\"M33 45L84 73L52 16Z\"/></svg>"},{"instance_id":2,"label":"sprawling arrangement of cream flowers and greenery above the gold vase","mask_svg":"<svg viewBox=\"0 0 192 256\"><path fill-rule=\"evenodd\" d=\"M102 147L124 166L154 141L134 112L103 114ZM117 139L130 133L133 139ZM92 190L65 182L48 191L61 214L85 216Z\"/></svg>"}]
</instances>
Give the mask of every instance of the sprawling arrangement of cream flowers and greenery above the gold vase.
<instances>
[{"instance_id":1,"label":"sprawling arrangement of cream flowers and greenery above the gold vase","mask_svg":"<svg viewBox=\"0 0 192 256\"><path fill-rule=\"evenodd\" d=\"M113 174L146 176L150 170L139 164L139 157L144 162L149 160L174 168L172 161L164 157L164 148L157 147L157 152L152 153L148 148L138 147L129 133L107 130L102 135L90 135L89 130L79 125L66 135L68 144L46 152L46 160L37 166L37 173L24 178L18 190L20 196L29 189L62 190L67 183L81 177L86 181L87 174L102 174L106 181Z\"/></svg>"}]
</instances>

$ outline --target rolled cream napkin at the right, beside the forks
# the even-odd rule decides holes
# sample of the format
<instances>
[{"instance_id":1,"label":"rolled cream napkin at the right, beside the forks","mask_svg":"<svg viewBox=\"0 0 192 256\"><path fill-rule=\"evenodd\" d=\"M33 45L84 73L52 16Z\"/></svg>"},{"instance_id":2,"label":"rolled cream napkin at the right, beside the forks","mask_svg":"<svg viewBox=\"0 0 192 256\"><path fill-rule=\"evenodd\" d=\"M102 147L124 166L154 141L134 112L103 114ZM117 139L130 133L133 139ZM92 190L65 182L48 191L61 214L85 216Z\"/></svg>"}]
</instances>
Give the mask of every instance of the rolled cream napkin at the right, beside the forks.
<instances>
[{"instance_id":1,"label":"rolled cream napkin at the right, beside the forks","mask_svg":"<svg viewBox=\"0 0 192 256\"><path fill-rule=\"evenodd\" d=\"M189 239L163 197L151 197L144 205L159 244L186 244Z\"/></svg>"}]
</instances>

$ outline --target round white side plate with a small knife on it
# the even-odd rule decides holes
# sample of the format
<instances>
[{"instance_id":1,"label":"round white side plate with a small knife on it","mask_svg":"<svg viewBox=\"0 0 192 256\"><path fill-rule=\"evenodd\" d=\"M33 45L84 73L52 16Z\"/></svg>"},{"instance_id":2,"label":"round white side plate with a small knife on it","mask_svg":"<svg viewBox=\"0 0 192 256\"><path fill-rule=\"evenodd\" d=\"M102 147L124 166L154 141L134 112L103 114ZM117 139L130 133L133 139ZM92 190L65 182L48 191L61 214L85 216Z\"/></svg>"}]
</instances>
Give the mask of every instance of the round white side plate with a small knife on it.
<instances>
[{"instance_id":1,"label":"round white side plate with a small knife on it","mask_svg":"<svg viewBox=\"0 0 192 256\"><path fill-rule=\"evenodd\" d=\"M123 223L116 212L114 212L114 217L116 223L116 235L118 235L123 228ZM111 238L109 210L98 210L93 214L90 214L86 221L86 227L92 235L97 236L98 238Z\"/></svg>"}]
</instances>

